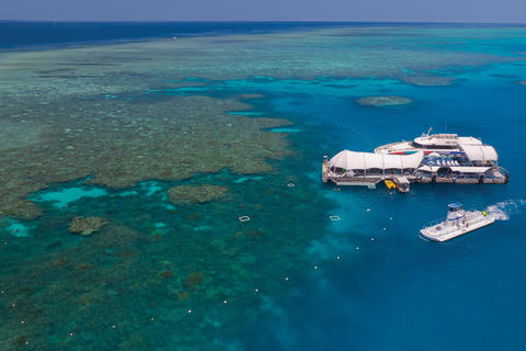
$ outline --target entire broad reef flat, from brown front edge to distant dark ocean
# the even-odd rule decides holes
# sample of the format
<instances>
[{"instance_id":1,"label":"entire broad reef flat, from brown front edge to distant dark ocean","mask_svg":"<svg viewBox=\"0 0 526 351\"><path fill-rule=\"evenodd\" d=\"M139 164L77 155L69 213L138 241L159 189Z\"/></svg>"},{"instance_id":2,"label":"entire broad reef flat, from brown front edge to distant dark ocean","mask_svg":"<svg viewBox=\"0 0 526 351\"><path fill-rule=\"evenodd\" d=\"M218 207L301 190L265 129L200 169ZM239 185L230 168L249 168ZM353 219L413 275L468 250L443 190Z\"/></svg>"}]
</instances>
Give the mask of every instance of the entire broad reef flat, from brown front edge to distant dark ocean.
<instances>
[{"instance_id":1,"label":"entire broad reef flat, from brown front edge to distant dark ocean","mask_svg":"<svg viewBox=\"0 0 526 351\"><path fill-rule=\"evenodd\" d=\"M238 99L258 94L219 100L160 91L206 92L221 80L252 77L374 76L435 86L448 78L418 72L508 60L439 49L431 55L430 45L444 47L456 39L456 34L444 36L431 29L426 39L411 38L412 49L401 50L391 31L361 29L357 35L355 29L328 29L308 35L238 35L221 41L211 36L2 53L0 216L42 215L24 199L54 182L91 174L92 183L126 188L141 180L181 180L224 168L259 173L272 170L266 160L287 155L285 135L262 131L288 122L226 113L250 109ZM377 39L389 59L377 55Z\"/></svg>"}]
</instances>

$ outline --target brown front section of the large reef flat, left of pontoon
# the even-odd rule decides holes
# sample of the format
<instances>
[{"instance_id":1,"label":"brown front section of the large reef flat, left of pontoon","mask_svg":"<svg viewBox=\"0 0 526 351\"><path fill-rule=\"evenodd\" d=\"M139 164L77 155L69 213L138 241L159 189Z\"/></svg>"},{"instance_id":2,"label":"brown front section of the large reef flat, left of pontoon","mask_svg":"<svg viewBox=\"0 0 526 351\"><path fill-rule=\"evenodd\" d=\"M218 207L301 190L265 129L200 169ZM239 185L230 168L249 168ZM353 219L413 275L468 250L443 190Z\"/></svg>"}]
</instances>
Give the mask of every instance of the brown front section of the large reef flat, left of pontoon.
<instances>
[{"instance_id":1,"label":"brown front section of the large reef flat, left of pontoon","mask_svg":"<svg viewBox=\"0 0 526 351\"><path fill-rule=\"evenodd\" d=\"M44 106L49 109L49 104ZM36 218L42 208L26 201L27 194L53 182L90 174L88 183L118 189L142 180L182 180L225 168L236 173L272 171L265 159L289 155L288 141L278 133L262 129L290 123L225 112L249 107L235 100L206 97L172 97L151 104L68 102L65 98L54 114L34 106L39 113L22 113L20 120L45 121L46 127L38 132L42 139L0 149L0 183L5 184L0 189L0 216ZM0 139L3 133L0 129Z\"/></svg>"}]
</instances>

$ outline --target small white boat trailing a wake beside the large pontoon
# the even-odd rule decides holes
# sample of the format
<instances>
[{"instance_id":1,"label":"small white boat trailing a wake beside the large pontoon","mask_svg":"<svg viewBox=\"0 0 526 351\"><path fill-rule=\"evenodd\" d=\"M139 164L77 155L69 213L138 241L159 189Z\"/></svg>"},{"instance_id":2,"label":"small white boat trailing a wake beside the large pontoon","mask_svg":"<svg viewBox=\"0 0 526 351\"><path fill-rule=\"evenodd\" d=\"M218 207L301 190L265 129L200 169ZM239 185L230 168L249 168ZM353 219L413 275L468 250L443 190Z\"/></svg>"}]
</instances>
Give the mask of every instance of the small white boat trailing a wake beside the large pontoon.
<instances>
[{"instance_id":1,"label":"small white boat trailing a wake beside the large pontoon","mask_svg":"<svg viewBox=\"0 0 526 351\"><path fill-rule=\"evenodd\" d=\"M424 238L433 241L446 241L495 222L495 217L485 211L465 211L462 204L458 202L448 206L447 218L432 222L420 230Z\"/></svg>"}]
</instances>

